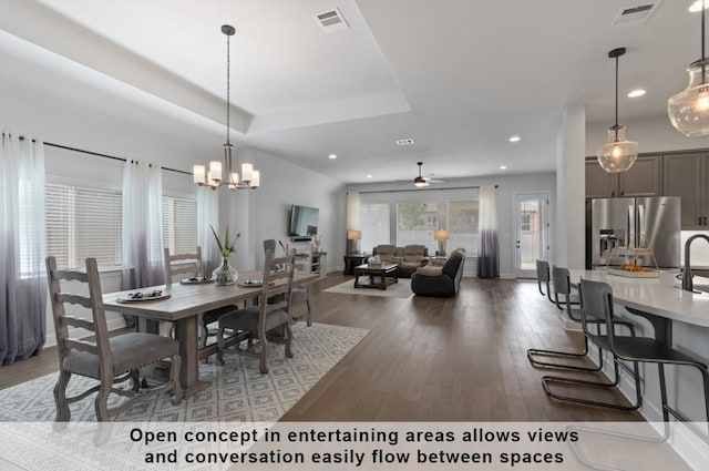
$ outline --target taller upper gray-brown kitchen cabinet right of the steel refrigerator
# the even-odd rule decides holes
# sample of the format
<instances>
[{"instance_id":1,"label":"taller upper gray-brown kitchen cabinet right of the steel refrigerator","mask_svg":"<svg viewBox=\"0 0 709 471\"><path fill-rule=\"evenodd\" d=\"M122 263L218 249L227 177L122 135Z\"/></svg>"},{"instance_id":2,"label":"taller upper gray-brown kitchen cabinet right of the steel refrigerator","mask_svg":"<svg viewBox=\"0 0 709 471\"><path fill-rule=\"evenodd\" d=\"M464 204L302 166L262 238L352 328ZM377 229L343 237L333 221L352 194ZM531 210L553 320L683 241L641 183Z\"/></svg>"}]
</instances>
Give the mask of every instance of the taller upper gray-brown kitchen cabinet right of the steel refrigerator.
<instances>
[{"instance_id":1,"label":"taller upper gray-brown kitchen cabinet right of the steel refrigerator","mask_svg":"<svg viewBox=\"0 0 709 471\"><path fill-rule=\"evenodd\" d=\"M662 187L666 196L680 196L682 229L709 228L709 162L707 153L664 156Z\"/></svg>"}]
</instances>

